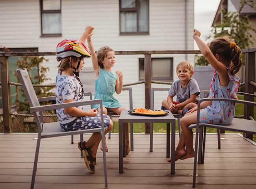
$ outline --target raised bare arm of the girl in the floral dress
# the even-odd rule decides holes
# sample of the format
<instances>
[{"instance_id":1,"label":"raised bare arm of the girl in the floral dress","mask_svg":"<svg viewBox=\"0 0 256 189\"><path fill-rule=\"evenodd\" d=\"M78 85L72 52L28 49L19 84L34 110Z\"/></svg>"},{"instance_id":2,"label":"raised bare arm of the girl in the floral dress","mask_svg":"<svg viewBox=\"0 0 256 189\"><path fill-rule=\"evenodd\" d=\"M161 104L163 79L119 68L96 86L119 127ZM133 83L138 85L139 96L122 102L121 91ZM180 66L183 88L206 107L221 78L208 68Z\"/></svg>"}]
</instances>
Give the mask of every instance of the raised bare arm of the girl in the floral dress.
<instances>
[{"instance_id":1,"label":"raised bare arm of the girl in the floral dress","mask_svg":"<svg viewBox=\"0 0 256 189\"><path fill-rule=\"evenodd\" d=\"M225 65L217 60L217 58L215 57L216 55L214 56L210 48L199 38L200 35L200 31L195 29L193 38L195 39L195 42L197 43L199 50L202 52L203 56L207 59L210 65L218 72L221 85L227 86L229 78Z\"/></svg>"}]
</instances>

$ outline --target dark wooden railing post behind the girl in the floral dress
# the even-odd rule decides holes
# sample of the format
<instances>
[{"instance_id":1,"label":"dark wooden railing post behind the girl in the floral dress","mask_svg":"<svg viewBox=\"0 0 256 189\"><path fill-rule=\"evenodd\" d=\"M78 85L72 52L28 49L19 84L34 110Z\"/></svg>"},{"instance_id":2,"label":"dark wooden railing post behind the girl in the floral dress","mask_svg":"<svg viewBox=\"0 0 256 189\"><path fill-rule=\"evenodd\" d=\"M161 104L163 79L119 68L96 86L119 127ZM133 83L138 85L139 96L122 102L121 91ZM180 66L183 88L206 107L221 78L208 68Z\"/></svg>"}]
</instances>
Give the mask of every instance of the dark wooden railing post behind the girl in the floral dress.
<instances>
[{"instance_id":1,"label":"dark wooden railing post behind the girl in the floral dress","mask_svg":"<svg viewBox=\"0 0 256 189\"><path fill-rule=\"evenodd\" d=\"M250 81L254 81L255 78L255 52L245 53L245 93L254 94L254 86L250 84ZM245 100L254 102L252 96L245 96ZM244 119L249 119L251 115L253 117L253 106L244 106ZM249 133L243 133L243 136L252 140L253 135Z\"/></svg>"}]
</instances>

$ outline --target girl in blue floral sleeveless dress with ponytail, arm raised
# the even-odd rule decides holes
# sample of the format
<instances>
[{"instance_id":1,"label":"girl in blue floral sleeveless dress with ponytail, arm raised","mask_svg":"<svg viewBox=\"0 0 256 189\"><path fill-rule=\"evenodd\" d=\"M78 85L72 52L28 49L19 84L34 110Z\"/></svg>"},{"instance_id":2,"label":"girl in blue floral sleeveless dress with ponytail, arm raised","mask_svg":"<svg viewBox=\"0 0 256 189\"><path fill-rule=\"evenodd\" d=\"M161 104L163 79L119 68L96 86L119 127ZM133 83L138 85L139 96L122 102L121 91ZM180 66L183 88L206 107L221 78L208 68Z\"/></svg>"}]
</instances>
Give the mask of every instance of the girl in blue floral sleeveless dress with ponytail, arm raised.
<instances>
[{"instance_id":1,"label":"girl in blue floral sleeveless dress with ponytail, arm raised","mask_svg":"<svg viewBox=\"0 0 256 189\"><path fill-rule=\"evenodd\" d=\"M215 69L210 85L209 98L234 98L240 84L236 73L242 67L242 53L229 36L213 39L208 46L199 38L201 33L194 30L193 38L203 56ZM235 104L224 101L204 101L200 106L200 122L225 124L232 122L235 115ZM189 110L180 120L182 128L180 141L175 150L175 161L194 157L193 132L188 127L197 122L197 107ZM167 160L171 162L171 159Z\"/></svg>"}]
</instances>

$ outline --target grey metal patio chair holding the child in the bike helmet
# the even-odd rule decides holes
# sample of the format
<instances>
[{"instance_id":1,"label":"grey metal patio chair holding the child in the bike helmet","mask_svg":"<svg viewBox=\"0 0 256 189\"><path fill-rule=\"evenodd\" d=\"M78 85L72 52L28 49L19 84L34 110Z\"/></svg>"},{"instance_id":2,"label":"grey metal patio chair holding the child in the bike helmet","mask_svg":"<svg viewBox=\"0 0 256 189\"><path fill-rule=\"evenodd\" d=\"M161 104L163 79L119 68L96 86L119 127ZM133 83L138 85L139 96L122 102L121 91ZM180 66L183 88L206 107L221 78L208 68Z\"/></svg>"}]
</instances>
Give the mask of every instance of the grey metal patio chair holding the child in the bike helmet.
<instances>
[{"instance_id":1,"label":"grey metal patio chair holding the child in the bike helmet","mask_svg":"<svg viewBox=\"0 0 256 189\"><path fill-rule=\"evenodd\" d=\"M83 133L100 132L102 135L102 142L103 142L102 153L103 153L103 162L104 162L105 189L107 189L108 180L107 180L106 151L105 151L105 140L104 140L105 128L104 128L104 121L103 121L103 113L101 113L101 124L102 124L101 128L63 132L63 130L59 125L59 122L43 123L43 111L45 110L59 109L59 108L65 108L65 107L85 106L85 105L91 105L91 104L100 104L100 107L102 108L102 99L41 106L39 102L47 101L47 100L56 100L56 96L37 98L26 68L24 68L23 70L18 69L17 73L19 75L20 82L22 83L22 87L24 89L28 102L30 104L30 111L34 115L35 121L37 123L37 128L38 128L37 145L35 150L35 160L33 165L32 181L31 181L30 188L33 189L35 184L35 175L37 170L37 161L38 161L41 139L80 134L80 141L83 141ZM39 116L40 116L40 119L39 119Z\"/></svg>"}]
</instances>

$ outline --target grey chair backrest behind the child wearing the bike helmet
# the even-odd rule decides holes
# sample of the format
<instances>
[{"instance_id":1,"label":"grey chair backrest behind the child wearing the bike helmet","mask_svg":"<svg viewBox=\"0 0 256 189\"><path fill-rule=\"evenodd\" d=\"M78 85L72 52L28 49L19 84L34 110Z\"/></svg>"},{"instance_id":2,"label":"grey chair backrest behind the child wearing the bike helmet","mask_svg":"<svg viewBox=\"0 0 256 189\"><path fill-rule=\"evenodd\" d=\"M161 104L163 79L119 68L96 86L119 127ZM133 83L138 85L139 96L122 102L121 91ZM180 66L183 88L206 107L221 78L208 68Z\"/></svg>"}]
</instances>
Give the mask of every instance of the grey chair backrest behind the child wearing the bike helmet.
<instances>
[{"instance_id":1,"label":"grey chair backrest behind the child wearing the bike helmet","mask_svg":"<svg viewBox=\"0 0 256 189\"><path fill-rule=\"evenodd\" d=\"M30 107L40 106L39 101L37 99L37 95L35 94L35 90L33 88L32 82L28 75L28 71L26 68L20 70L16 70L18 76L20 78L20 82L28 99Z\"/></svg>"}]
</instances>

